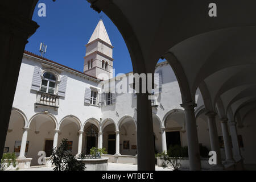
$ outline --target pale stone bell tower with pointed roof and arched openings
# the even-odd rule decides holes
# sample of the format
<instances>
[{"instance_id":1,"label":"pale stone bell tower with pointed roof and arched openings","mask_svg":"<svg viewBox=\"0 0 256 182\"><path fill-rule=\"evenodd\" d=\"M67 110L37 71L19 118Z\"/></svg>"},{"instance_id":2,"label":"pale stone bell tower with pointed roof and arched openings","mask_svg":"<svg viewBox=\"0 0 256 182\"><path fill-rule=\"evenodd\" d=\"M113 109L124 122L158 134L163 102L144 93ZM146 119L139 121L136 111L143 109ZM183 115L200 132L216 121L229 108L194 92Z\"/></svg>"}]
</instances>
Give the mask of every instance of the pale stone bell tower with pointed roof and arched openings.
<instances>
[{"instance_id":1,"label":"pale stone bell tower with pointed roof and arched openings","mask_svg":"<svg viewBox=\"0 0 256 182\"><path fill-rule=\"evenodd\" d=\"M89 42L86 44L84 73L102 80L112 78L114 60L112 56L113 46L109 40L104 23L100 20Z\"/></svg>"}]
</instances>

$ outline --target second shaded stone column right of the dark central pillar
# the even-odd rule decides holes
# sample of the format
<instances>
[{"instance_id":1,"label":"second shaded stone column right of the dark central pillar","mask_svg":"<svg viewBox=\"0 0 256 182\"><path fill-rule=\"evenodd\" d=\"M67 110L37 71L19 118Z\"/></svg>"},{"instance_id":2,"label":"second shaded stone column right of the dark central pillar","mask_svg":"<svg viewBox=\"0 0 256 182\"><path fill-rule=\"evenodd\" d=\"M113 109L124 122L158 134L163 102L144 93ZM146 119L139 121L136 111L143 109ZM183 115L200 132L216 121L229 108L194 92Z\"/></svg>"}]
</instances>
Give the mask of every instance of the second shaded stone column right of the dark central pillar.
<instances>
[{"instance_id":1,"label":"second shaded stone column right of the dark central pillar","mask_svg":"<svg viewBox=\"0 0 256 182\"><path fill-rule=\"evenodd\" d=\"M221 162L221 152L220 152L220 144L218 143L218 131L216 126L216 113L213 111L209 111L206 113L208 117L208 127L210 134L210 148L212 151L216 152L216 164L212 165L212 169L223 169Z\"/></svg>"}]
</instances>

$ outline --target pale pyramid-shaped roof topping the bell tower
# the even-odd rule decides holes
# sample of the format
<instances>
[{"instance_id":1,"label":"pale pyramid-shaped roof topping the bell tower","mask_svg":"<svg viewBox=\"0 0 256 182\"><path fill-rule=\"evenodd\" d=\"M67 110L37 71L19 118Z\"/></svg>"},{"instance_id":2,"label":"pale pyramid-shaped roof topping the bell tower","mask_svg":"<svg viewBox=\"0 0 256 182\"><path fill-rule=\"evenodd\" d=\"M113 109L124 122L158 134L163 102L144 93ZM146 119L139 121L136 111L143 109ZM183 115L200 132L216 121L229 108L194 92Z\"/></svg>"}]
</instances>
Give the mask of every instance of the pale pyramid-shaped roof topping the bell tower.
<instances>
[{"instance_id":1,"label":"pale pyramid-shaped roof topping the bell tower","mask_svg":"<svg viewBox=\"0 0 256 182\"><path fill-rule=\"evenodd\" d=\"M106 32L106 28L104 26L104 23L103 23L102 19L100 19L100 21L98 22L95 30L93 31L92 36L90 37L90 40L89 40L88 44L90 42L93 42L93 40L96 40L96 39L101 39L104 42L106 42L106 43L108 43L112 46L112 44L110 42L110 39L109 39L109 35Z\"/></svg>"}]
</instances>

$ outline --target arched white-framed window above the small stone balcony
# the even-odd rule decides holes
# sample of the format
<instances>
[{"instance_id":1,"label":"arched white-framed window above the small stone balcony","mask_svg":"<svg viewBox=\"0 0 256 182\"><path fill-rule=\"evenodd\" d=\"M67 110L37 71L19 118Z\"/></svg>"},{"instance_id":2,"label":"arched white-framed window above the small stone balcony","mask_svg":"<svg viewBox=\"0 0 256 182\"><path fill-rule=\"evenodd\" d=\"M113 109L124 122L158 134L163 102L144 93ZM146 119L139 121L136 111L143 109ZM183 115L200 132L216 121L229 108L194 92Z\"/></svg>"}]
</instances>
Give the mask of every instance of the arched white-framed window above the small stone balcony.
<instances>
[{"instance_id":1,"label":"arched white-framed window above the small stone balcony","mask_svg":"<svg viewBox=\"0 0 256 182\"><path fill-rule=\"evenodd\" d=\"M42 78L41 92L54 94L56 77L51 72L45 72Z\"/></svg>"}]
</instances>

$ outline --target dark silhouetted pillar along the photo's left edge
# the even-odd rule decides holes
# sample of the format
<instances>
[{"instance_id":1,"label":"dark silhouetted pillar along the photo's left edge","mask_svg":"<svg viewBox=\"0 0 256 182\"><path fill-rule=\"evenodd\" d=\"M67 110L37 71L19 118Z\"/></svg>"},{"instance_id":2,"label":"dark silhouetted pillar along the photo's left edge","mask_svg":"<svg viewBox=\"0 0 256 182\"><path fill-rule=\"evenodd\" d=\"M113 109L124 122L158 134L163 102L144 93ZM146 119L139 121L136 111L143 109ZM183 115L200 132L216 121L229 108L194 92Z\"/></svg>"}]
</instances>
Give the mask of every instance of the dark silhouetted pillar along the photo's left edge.
<instances>
[{"instance_id":1,"label":"dark silhouetted pillar along the photo's left edge","mask_svg":"<svg viewBox=\"0 0 256 182\"><path fill-rule=\"evenodd\" d=\"M27 39L34 34L39 27L32 21L33 11L36 5L34 1L1 1L0 6L0 159L10 121L11 108L13 106L16 84L19 76L20 64Z\"/></svg>"}]
</instances>

